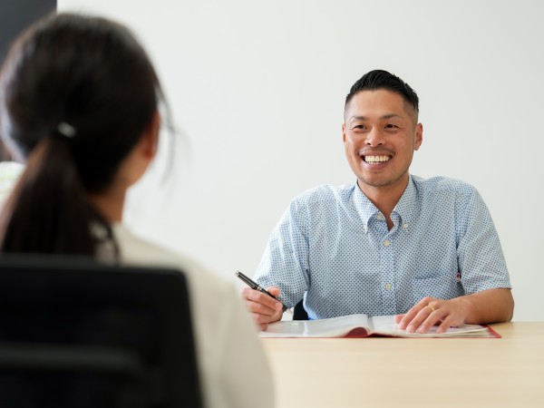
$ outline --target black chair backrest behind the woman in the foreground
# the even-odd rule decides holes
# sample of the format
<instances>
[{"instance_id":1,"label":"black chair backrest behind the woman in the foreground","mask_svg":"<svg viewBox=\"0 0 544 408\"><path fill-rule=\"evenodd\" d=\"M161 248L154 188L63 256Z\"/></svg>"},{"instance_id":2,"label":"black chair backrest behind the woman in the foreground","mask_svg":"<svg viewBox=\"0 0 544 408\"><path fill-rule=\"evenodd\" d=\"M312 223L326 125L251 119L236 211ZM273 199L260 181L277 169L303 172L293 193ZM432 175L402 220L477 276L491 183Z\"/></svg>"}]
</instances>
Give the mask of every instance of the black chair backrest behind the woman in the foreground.
<instances>
[{"instance_id":1,"label":"black chair backrest behind the woman in the foreground","mask_svg":"<svg viewBox=\"0 0 544 408\"><path fill-rule=\"evenodd\" d=\"M180 271L0 257L0 406L201 404Z\"/></svg>"}]
</instances>

